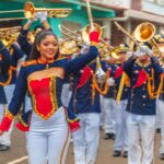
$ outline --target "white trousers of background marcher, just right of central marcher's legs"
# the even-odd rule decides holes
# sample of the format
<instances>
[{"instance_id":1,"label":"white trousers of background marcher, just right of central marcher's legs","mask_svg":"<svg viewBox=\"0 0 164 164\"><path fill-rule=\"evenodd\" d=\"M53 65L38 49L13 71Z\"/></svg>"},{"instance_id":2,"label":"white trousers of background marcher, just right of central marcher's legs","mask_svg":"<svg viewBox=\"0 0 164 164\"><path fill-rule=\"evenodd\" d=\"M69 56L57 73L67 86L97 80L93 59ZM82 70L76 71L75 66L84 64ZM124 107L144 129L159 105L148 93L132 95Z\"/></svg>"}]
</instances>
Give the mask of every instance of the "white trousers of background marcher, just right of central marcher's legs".
<instances>
[{"instance_id":1,"label":"white trousers of background marcher, just right of central marcher's legs","mask_svg":"<svg viewBox=\"0 0 164 164\"><path fill-rule=\"evenodd\" d=\"M115 133L115 99L104 97L105 133Z\"/></svg>"}]
</instances>

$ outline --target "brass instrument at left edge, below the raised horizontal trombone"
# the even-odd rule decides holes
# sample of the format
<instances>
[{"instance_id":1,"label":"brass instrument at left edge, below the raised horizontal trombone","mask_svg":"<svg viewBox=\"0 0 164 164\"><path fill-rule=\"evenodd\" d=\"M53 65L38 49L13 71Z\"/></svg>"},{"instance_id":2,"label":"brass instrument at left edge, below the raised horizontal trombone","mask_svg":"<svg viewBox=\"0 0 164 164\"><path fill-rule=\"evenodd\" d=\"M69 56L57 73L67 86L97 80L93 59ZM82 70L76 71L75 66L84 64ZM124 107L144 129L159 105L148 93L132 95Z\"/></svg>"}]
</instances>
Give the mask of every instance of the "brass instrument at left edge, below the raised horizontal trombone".
<instances>
[{"instance_id":1,"label":"brass instrument at left edge, below the raised horizontal trombone","mask_svg":"<svg viewBox=\"0 0 164 164\"><path fill-rule=\"evenodd\" d=\"M20 30L21 26L0 28L0 39L7 47L10 47L17 39Z\"/></svg>"}]
</instances>

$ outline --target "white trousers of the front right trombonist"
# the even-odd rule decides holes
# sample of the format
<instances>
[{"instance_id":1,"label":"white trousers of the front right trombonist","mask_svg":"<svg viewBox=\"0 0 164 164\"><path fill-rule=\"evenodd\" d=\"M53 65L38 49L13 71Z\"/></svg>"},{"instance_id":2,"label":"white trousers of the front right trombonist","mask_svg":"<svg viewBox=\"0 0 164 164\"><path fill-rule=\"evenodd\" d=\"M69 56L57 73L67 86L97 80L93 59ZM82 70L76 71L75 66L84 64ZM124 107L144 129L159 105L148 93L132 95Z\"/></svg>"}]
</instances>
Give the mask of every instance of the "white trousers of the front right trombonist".
<instances>
[{"instance_id":1,"label":"white trousers of the front right trombonist","mask_svg":"<svg viewBox=\"0 0 164 164\"><path fill-rule=\"evenodd\" d=\"M154 156L155 116L128 114L128 164L152 164Z\"/></svg>"}]
</instances>

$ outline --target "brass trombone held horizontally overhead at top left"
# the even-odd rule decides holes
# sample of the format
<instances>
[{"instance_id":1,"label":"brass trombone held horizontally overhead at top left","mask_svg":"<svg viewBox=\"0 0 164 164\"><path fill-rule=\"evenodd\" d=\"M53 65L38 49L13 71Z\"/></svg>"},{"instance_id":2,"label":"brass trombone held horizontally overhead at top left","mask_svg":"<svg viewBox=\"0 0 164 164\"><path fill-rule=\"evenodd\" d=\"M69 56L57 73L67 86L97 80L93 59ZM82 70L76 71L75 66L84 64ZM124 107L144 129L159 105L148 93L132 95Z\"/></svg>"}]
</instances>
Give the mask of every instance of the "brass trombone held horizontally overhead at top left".
<instances>
[{"instance_id":1,"label":"brass trombone held horizontally overhead at top left","mask_svg":"<svg viewBox=\"0 0 164 164\"><path fill-rule=\"evenodd\" d=\"M0 13L19 13L19 12L24 12L24 17L0 19L0 21L34 19L36 12L47 12L48 17L66 17L72 12L72 9L70 8L56 8L56 9L35 8L33 2L26 2L24 5L24 10L1 11Z\"/></svg>"}]
</instances>

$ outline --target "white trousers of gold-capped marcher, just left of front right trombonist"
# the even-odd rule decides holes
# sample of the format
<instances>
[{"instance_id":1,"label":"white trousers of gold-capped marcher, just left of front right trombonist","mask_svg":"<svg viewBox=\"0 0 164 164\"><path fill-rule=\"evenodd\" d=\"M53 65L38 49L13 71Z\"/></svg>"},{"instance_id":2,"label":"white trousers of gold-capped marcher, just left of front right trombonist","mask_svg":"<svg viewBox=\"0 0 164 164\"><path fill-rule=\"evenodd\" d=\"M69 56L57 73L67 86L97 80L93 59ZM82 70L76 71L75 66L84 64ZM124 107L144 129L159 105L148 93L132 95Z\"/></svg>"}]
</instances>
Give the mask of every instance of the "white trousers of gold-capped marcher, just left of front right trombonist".
<instances>
[{"instance_id":1,"label":"white trousers of gold-capped marcher, just left of front right trombonist","mask_svg":"<svg viewBox=\"0 0 164 164\"><path fill-rule=\"evenodd\" d=\"M127 130L127 99L120 101L119 105L115 105L116 118L116 139L114 150L128 151L128 130Z\"/></svg>"}]
</instances>

